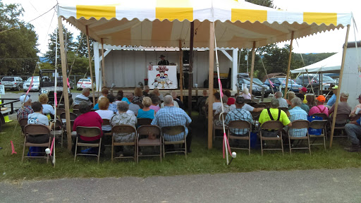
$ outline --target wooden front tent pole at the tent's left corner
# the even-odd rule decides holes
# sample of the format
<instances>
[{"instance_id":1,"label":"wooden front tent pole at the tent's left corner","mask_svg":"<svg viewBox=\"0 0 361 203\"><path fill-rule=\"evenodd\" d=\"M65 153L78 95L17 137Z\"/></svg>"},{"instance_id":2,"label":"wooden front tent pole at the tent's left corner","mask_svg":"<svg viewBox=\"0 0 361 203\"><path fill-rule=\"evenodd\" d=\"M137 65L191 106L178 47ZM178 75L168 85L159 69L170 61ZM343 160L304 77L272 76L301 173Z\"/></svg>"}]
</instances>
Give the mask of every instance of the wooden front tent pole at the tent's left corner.
<instances>
[{"instance_id":1,"label":"wooden front tent pole at the tent's left corner","mask_svg":"<svg viewBox=\"0 0 361 203\"><path fill-rule=\"evenodd\" d=\"M58 18L58 31L59 31L59 41L60 41L60 57L61 57L61 74L63 78L66 77L66 52L64 48L64 35L63 35L63 22L61 21L61 16ZM65 118L66 118L66 136L68 140L68 150L71 151L71 114L70 114L70 105L69 105L69 94L68 94L68 84L65 79L63 79L63 94L64 94L64 104L65 104ZM55 98L56 99L56 98Z\"/></svg>"}]
</instances>

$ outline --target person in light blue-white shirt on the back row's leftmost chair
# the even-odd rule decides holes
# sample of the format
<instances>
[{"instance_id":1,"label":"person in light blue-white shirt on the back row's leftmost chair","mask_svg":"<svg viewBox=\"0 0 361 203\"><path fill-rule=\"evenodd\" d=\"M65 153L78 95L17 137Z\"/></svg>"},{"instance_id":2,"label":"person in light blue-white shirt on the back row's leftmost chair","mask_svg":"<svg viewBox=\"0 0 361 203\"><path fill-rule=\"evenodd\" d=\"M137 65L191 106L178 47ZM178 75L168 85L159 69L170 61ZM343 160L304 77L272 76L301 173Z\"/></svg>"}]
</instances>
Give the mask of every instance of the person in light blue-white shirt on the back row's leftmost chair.
<instances>
[{"instance_id":1,"label":"person in light blue-white shirt on the back row's leftmost chair","mask_svg":"<svg viewBox=\"0 0 361 203\"><path fill-rule=\"evenodd\" d=\"M42 103L40 103L39 101L35 101L31 104L31 108L32 110L34 110L34 113L30 113L27 116L27 124L41 124L47 126L49 130L51 130L54 123L51 123L51 125L49 125L48 117L42 114ZM27 142L41 144L49 142L49 135L28 135L26 140Z\"/></svg>"}]
</instances>

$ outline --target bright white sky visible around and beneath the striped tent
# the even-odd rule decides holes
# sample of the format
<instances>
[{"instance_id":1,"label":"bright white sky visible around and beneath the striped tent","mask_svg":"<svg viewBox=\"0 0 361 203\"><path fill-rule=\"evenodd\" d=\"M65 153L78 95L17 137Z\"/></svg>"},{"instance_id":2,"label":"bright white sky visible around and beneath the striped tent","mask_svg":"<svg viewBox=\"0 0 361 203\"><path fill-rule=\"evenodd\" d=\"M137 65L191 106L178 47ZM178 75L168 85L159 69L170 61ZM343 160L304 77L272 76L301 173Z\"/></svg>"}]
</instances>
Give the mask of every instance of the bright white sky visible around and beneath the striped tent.
<instances>
[{"instance_id":1,"label":"bright white sky visible around and beneath the striped tent","mask_svg":"<svg viewBox=\"0 0 361 203\"><path fill-rule=\"evenodd\" d=\"M61 0L58 0L61 1ZM74 0L75 1L75 0ZM2 0L4 4L21 4L25 12L22 17L25 22L28 22L43 13L49 11L53 6L56 5L56 0ZM343 11L353 12L357 27L361 29L361 14L357 11L357 8L361 8L360 0L274 0L274 6L287 11L318 11L318 12L338 12ZM35 32L39 37L38 49L40 54L45 54L47 51L47 45L49 42L49 34L54 32L56 29L58 20L55 10L52 9L48 13L44 14L30 22L35 26ZM68 30L73 32L73 37L76 39L80 32L71 25L63 23ZM297 39L293 41L293 51L295 53L323 53L323 52L339 52L342 51L343 42L345 42L345 31L333 30L330 32L318 33L317 35ZM353 26L350 29L350 36L348 42L355 42L356 39L361 39L361 30L359 33L354 32ZM290 41L286 42L290 43ZM284 43L283 43L284 44ZM283 44L280 44L283 47Z\"/></svg>"}]
</instances>

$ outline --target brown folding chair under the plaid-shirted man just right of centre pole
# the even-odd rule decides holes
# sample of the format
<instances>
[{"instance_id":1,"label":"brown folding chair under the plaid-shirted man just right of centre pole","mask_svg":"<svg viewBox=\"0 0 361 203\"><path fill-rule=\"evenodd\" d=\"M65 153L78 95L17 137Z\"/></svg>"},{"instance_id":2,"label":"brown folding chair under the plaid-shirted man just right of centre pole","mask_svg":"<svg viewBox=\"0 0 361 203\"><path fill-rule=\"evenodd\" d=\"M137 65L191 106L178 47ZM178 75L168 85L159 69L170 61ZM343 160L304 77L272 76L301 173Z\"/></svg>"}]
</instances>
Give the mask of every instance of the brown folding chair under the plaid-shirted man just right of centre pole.
<instances>
[{"instance_id":1,"label":"brown folding chair under the plaid-shirted man just right of centre pole","mask_svg":"<svg viewBox=\"0 0 361 203\"><path fill-rule=\"evenodd\" d=\"M234 135L231 132L231 128L235 128L235 129L247 129L248 130L248 136L237 136ZM251 154L251 130L252 130L252 125L250 122L248 121L231 121L228 123L228 142L229 140L248 140L248 148L241 148L241 147L230 147L231 149L247 149L248 150L248 155Z\"/></svg>"}]
</instances>

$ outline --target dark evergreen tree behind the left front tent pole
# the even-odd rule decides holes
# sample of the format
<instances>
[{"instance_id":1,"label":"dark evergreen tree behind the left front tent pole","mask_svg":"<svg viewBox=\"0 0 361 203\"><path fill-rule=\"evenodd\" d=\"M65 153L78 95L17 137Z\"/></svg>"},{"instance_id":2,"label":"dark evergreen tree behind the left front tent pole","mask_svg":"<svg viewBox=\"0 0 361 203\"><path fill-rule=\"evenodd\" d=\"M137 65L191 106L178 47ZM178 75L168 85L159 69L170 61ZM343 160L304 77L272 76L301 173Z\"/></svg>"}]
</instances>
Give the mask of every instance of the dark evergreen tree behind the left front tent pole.
<instances>
[{"instance_id":1,"label":"dark evergreen tree behind the left front tent pole","mask_svg":"<svg viewBox=\"0 0 361 203\"><path fill-rule=\"evenodd\" d=\"M55 48L56 48L56 43L58 44L58 66L60 66L61 64L61 57L60 57L60 41L59 41L59 35L56 38L56 34L58 32L58 28L56 28L54 30L53 33L51 33L49 35L50 37L50 42L48 44L48 49L49 51L47 51L47 53L44 55L48 60L49 63L51 63L52 66L55 66ZM68 32L68 29L66 29L66 27L63 26L63 35L64 35L64 43L66 45L66 52L68 51L73 51L74 47L75 47L75 43L73 42L73 33Z\"/></svg>"}]
</instances>

